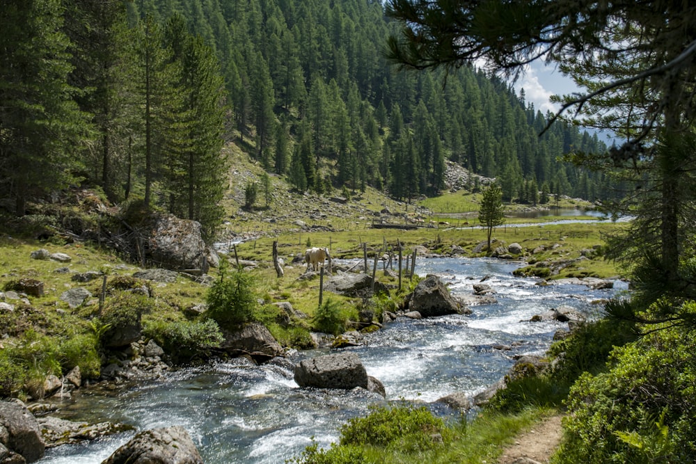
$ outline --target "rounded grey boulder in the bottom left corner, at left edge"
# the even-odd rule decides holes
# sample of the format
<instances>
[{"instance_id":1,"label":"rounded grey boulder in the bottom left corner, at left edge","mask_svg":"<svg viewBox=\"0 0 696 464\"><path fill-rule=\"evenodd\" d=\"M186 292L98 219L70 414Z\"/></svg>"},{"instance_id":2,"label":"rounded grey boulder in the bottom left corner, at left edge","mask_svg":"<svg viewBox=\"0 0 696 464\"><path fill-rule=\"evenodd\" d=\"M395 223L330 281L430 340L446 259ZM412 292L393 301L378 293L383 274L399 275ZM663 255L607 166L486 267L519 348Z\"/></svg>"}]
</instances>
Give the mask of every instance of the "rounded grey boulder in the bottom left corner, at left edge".
<instances>
[{"instance_id":1,"label":"rounded grey boulder in the bottom left corner, at left edge","mask_svg":"<svg viewBox=\"0 0 696 464\"><path fill-rule=\"evenodd\" d=\"M3 439L7 438L3 444L27 463L43 457L46 445L39 424L24 404L0 401L0 432Z\"/></svg>"}]
</instances>

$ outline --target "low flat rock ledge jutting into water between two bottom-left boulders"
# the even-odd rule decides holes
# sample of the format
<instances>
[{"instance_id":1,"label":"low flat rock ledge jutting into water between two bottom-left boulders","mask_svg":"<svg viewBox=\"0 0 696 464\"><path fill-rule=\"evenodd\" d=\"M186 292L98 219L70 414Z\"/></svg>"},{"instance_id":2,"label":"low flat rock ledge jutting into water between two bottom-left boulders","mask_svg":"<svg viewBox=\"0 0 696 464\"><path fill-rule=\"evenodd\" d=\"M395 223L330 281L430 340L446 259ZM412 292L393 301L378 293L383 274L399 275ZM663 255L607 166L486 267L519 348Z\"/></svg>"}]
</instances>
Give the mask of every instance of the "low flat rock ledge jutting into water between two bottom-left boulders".
<instances>
[{"instance_id":1,"label":"low flat rock ledge jutting into water between two bottom-left boulders","mask_svg":"<svg viewBox=\"0 0 696 464\"><path fill-rule=\"evenodd\" d=\"M53 416L39 417L36 421L41 427L41 435L47 448L74 445L131 429L130 426L124 424L113 424L112 422L88 424L87 422L58 419L58 417Z\"/></svg>"}]
</instances>

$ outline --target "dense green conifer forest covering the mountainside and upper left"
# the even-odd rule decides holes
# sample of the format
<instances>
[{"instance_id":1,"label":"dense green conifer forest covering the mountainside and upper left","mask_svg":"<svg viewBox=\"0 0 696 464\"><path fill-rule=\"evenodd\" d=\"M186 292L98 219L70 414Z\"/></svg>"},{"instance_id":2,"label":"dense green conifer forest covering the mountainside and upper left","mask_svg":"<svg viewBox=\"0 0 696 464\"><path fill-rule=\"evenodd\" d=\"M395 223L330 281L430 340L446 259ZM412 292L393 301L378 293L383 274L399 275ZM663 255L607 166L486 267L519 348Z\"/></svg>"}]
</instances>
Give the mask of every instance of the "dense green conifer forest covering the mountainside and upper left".
<instances>
[{"instance_id":1,"label":"dense green conifer forest covering the mountainside and upper left","mask_svg":"<svg viewBox=\"0 0 696 464\"><path fill-rule=\"evenodd\" d=\"M35 0L0 15L0 196L86 181L219 223L223 141L298 190L443 189L445 159L498 177L505 200L615 195L557 161L606 150L471 67L397 72L372 0ZM445 85L446 84L446 85ZM475 186L471 186L474 188ZM134 195L135 194L135 195Z\"/></svg>"}]
</instances>

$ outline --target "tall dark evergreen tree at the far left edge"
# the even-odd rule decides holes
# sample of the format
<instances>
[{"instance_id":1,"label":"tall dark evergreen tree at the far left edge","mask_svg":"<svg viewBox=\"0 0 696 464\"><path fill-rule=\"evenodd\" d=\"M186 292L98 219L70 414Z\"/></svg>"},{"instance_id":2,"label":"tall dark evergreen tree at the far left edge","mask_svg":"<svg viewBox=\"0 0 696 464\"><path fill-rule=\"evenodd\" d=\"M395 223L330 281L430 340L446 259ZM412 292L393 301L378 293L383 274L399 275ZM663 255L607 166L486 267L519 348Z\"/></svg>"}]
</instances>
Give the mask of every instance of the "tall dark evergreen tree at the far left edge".
<instances>
[{"instance_id":1,"label":"tall dark evergreen tree at the far left edge","mask_svg":"<svg viewBox=\"0 0 696 464\"><path fill-rule=\"evenodd\" d=\"M0 8L0 196L24 216L35 193L74 181L87 124L68 83L68 37L58 0L8 0Z\"/></svg>"}]
</instances>

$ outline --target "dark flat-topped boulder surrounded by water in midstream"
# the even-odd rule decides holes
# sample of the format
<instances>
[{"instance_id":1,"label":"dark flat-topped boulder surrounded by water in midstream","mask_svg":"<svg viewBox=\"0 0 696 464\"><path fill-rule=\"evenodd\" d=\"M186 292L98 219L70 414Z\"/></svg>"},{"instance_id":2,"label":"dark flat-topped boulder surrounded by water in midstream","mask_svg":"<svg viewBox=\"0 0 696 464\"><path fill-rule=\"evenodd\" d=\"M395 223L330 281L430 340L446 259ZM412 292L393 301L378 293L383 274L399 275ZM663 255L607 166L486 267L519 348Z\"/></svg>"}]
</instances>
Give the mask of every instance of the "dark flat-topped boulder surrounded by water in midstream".
<instances>
[{"instance_id":1,"label":"dark flat-topped boulder surrounded by water in midstream","mask_svg":"<svg viewBox=\"0 0 696 464\"><path fill-rule=\"evenodd\" d=\"M295 366L295 382L300 387L367 389L365 366L355 353L336 353L303 360Z\"/></svg>"}]
</instances>

